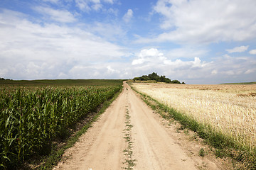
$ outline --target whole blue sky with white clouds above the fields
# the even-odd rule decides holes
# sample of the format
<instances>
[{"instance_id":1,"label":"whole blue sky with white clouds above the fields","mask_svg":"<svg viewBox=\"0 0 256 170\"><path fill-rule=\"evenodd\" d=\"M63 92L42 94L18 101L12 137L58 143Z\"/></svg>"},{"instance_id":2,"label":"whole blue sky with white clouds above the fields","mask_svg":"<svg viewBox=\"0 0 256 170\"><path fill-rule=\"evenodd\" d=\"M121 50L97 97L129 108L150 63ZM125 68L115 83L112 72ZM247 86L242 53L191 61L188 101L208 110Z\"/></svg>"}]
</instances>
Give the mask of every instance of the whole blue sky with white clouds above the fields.
<instances>
[{"instance_id":1,"label":"whole blue sky with white clouds above the fields","mask_svg":"<svg viewBox=\"0 0 256 170\"><path fill-rule=\"evenodd\" d=\"M0 77L256 81L255 0L0 0Z\"/></svg>"}]
</instances>

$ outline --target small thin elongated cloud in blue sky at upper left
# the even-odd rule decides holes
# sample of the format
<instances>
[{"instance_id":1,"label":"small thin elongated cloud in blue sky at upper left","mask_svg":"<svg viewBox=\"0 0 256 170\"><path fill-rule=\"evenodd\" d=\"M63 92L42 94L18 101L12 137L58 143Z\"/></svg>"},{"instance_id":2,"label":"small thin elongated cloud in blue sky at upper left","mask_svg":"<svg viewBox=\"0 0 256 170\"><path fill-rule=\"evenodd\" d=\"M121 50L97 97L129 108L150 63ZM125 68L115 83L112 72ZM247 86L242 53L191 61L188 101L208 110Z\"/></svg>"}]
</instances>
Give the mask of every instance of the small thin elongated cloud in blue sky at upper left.
<instances>
[{"instance_id":1,"label":"small thin elongated cloud in blue sky at upper left","mask_svg":"<svg viewBox=\"0 0 256 170\"><path fill-rule=\"evenodd\" d=\"M66 10L57 10L44 6L37 6L35 10L46 16L46 20L50 19L51 21L58 21L60 23L73 23L76 21L75 16Z\"/></svg>"}]
</instances>

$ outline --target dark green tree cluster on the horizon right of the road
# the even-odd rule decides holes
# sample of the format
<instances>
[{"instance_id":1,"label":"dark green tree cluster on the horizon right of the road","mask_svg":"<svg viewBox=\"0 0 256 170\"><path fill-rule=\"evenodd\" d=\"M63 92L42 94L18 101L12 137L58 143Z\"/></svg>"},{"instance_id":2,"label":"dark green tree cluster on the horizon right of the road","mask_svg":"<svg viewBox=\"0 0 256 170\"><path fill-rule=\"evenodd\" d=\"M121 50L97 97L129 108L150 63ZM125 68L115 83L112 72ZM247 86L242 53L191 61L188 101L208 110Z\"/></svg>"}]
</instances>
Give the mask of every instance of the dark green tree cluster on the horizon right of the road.
<instances>
[{"instance_id":1,"label":"dark green tree cluster on the horizon right of the road","mask_svg":"<svg viewBox=\"0 0 256 170\"><path fill-rule=\"evenodd\" d=\"M168 84L185 84L184 82L181 83L178 80L171 81L171 79L166 78L166 76L159 76L155 72L153 72L152 74L149 74L149 75L143 75L142 77L135 77L133 80L134 81L137 81L137 80L140 80L140 81L155 80L155 81L158 81L158 82L165 82L165 83L168 83Z\"/></svg>"}]
</instances>

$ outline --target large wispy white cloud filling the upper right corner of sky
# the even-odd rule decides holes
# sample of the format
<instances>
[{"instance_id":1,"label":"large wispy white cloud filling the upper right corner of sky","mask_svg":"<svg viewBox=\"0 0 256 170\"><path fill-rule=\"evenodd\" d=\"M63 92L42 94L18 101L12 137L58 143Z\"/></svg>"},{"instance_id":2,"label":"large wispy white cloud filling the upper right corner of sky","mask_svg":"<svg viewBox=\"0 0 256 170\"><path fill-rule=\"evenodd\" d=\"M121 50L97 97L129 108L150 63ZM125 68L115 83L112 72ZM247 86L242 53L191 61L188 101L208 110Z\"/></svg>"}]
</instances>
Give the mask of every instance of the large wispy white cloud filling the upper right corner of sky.
<instances>
[{"instance_id":1,"label":"large wispy white cloud filling the upper right corner of sky","mask_svg":"<svg viewBox=\"0 0 256 170\"><path fill-rule=\"evenodd\" d=\"M256 38L256 1L174 1L159 0L154 12L163 16L161 33L138 42L175 41L210 43L244 41ZM250 11L250 12L248 12Z\"/></svg>"}]
</instances>

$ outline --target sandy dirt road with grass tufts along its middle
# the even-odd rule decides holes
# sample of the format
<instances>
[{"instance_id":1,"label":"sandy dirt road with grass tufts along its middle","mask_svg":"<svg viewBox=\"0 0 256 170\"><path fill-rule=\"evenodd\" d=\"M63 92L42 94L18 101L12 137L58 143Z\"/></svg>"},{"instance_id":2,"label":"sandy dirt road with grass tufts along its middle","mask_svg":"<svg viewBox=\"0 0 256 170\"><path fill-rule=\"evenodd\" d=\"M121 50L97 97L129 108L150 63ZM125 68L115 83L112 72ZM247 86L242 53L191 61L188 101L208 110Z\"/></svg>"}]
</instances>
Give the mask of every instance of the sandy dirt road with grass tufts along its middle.
<instances>
[{"instance_id":1,"label":"sandy dirt road with grass tufts along its middle","mask_svg":"<svg viewBox=\"0 0 256 170\"><path fill-rule=\"evenodd\" d=\"M198 169L198 160L185 151L124 82L116 101L54 169Z\"/></svg>"}]
</instances>

